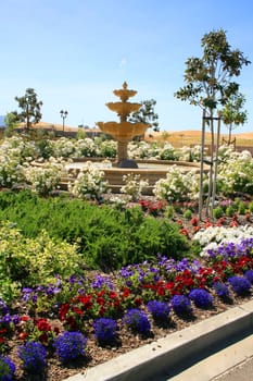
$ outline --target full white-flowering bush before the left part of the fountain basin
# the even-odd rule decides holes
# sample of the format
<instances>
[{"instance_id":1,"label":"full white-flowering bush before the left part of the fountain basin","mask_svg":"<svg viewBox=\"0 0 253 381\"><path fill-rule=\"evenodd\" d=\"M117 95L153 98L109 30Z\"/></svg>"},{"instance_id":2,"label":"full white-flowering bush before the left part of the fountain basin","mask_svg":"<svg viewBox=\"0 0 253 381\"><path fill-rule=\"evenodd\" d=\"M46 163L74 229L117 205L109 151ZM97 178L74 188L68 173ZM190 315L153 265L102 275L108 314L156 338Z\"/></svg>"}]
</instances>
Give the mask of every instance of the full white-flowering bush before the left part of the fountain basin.
<instances>
[{"instance_id":1,"label":"full white-flowering bush before the left part of the fountain basin","mask_svg":"<svg viewBox=\"0 0 253 381\"><path fill-rule=\"evenodd\" d=\"M101 199L109 190L107 181L104 180L104 172L98 167L87 162L78 172L73 183L68 183L68 192L78 198Z\"/></svg>"}]
</instances>

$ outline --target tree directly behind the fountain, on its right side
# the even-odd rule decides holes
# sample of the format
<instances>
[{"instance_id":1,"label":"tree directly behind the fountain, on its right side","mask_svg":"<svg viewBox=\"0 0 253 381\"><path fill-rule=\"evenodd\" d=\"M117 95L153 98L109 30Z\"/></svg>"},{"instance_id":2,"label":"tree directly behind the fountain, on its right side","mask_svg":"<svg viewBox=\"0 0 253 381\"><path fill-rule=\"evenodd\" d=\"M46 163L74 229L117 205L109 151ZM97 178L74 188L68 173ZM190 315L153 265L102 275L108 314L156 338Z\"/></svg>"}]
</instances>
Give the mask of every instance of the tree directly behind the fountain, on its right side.
<instances>
[{"instance_id":1,"label":"tree directly behind the fountain, on its right side","mask_svg":"<svg viewBox=\"0 0 253 381\"><path fill-rule=\"evenodd\" d=\"M131 123L146 123L149 124L153 131L159 132L159 115L154 111L156 100L143 100L138 111L132 112L128 118Z\"/></svg>"}]
</instances>

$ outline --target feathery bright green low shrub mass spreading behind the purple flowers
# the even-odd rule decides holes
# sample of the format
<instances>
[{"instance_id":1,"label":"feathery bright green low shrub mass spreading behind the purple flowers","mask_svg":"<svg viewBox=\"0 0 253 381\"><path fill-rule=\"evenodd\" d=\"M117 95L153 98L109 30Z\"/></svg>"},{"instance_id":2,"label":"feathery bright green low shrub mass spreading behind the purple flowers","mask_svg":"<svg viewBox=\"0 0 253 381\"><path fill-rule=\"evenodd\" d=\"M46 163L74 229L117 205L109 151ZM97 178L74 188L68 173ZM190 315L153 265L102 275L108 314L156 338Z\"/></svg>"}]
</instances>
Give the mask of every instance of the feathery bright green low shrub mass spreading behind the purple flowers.
<instances>
[{"instance_id":1,"label":"feathery bright green low shrub mass spreading behind the purple flowers","mask_svg":"<svg viewBox=\"0 0 253 381\"><path fill-rule=\"evenodd\" d=\"M27 238L45 231L50 239L75 244L80 263L106 271L159 253L181 258L188 250L176 224L146 217L139 206L119 211L81 199L8 192L0 193L0 219L16 223Z\"/></svg>"}]
</instances>

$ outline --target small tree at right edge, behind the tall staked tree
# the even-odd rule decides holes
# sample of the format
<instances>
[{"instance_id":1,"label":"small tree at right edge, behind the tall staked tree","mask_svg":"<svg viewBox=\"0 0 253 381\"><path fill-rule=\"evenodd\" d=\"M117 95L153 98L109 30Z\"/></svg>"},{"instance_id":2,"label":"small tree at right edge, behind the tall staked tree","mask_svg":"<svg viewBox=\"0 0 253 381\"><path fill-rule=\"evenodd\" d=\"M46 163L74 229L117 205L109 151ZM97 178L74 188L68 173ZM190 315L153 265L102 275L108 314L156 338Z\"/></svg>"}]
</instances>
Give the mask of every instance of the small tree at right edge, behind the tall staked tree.
<instances>
[{"instance_id":1,"label":"small tree at right edge, behind the tall staked tree","mask_svg":"<svg viewBox=\"0 0 253 381\"><path fill-rule=\"evenodd\" d=\"M248 119L246 110L243 110L245 97L241 94L235 94L220 112L224 124L228 127L228 144L231 144L232 130L240 124L244 124Z\"/></svg>"}]
</instances>

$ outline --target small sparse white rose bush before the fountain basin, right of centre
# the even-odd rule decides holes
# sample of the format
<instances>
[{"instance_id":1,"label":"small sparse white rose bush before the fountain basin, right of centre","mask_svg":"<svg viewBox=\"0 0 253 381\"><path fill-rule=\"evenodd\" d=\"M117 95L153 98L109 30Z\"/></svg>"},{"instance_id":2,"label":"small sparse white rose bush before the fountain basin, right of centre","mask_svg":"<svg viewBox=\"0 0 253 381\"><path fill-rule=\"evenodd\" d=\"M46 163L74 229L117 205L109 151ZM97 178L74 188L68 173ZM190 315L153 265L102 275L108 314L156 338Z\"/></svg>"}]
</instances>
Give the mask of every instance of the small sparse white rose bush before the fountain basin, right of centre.
<instances>
[{"instance_id":1,"label":"small sparse white rose bush before the fountain basin, right of centre","mask_svg":"<svg viewBox=\"0 0 253 381\"><path fill-rule=\"evenodd\" d=\"M121 193L128 195L131 201L136 201L141 197L143 188L149 185L147 180L140 177L139 174L128 173L123 176L125 185L121 188Z\"/></svg>"}]
</instances>

